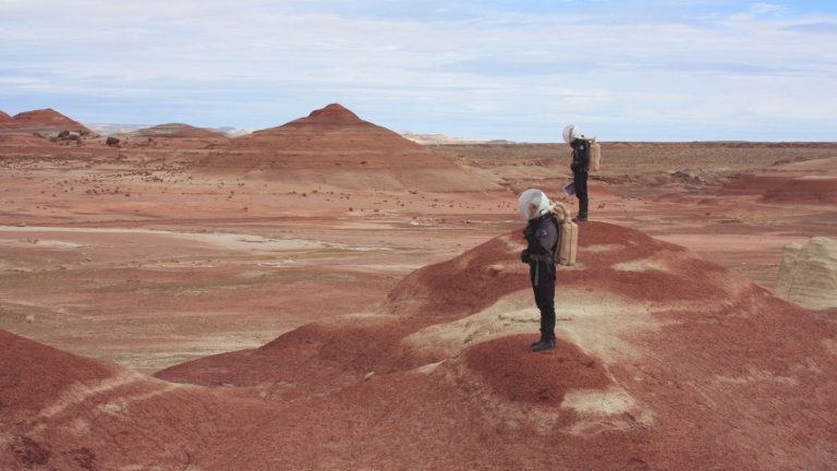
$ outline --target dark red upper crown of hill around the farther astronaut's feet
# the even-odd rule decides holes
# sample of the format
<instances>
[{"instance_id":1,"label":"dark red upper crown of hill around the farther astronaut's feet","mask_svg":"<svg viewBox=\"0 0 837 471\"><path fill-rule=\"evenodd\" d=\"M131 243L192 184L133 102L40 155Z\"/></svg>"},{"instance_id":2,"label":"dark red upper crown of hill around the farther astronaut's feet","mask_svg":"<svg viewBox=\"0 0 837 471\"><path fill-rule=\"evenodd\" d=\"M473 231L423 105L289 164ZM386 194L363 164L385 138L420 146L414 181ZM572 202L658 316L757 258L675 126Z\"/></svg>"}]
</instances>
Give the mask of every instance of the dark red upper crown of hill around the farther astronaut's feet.
<instances>
[{"instance_id":1,"label":"dark red upper crown of hill around the farther astronaut's feet","mask_svg":"<svg viewBox=\"0 0 837 471\"><path fill-rule=\"evenodd\" d=\"M596 252L596 246L608 250ZM457 258L413 271L388 294L389 309L437 322L481 311L501 295L530 286L529 278L521 276L521 270L527 268L518 258L523 249L522 233L511 232ZM585 252L587 249L590 252ZM703 299L719 294L711 280L726 273L720 266L696 258L686 265L671 262L666 270L615 269L617 264L651 256L677 258L684 249L605 222L589 221L579 227L579 250L575 267L559 267L557 289L581 286L648 301Z\"/></svg>"}]
</instances>

